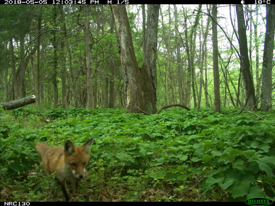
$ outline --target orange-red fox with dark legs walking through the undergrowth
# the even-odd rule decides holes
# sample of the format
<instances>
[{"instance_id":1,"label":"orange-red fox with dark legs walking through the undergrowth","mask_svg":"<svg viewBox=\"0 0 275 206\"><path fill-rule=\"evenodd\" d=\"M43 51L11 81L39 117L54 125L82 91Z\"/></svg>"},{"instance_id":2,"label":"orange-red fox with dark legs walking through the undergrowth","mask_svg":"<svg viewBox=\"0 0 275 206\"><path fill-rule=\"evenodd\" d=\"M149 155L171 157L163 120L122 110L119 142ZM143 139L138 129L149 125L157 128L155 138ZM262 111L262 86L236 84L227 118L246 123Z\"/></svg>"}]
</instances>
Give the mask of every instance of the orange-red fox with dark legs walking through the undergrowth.
<instances>
[{"instance_id":1,"label":"orange-red fox with dark legs walking through the undergrowth","mask_svg":"<svg viewBox=\"0 0 275 206\"><path fill-rule=\"evenodd\" d=\"M74 146L66 140L64 147L50 147L43 142L38 142L35 148L42 159L42 166L49 174L56 172L56 179L59 180L63 195L66 201L69 196L66 189L66 181L73 179L71 192L75 194L76 182L86 176L85 167L90 159L90 148L93 138L82 146Z\"/></svg>"}]
</instances>

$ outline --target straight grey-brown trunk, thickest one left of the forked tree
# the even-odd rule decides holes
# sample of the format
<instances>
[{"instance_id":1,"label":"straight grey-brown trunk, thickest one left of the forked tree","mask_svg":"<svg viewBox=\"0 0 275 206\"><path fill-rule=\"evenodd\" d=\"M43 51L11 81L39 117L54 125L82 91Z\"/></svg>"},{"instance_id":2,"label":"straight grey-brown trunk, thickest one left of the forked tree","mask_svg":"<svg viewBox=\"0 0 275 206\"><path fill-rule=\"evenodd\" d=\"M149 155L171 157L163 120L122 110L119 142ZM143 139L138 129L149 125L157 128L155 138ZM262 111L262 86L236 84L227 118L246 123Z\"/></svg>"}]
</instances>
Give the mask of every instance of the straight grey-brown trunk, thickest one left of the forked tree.
<instances>
[{"instance_id":1,"label":"straight grey-brown trunk, thickest one left of the forked tree","mask_svg":"<svg viewBox=\"0 0 275 206\"><path fill-rule=\"evenodd\" d=\"M84 39L85 39L85 58L86 58L86 87L87 87L87 104L86 109L93 109L93 73L91 69L91 40L90 40L90 23L88 14L89 5L83 5L84 13Z\"/></svg>"}]
</instances>

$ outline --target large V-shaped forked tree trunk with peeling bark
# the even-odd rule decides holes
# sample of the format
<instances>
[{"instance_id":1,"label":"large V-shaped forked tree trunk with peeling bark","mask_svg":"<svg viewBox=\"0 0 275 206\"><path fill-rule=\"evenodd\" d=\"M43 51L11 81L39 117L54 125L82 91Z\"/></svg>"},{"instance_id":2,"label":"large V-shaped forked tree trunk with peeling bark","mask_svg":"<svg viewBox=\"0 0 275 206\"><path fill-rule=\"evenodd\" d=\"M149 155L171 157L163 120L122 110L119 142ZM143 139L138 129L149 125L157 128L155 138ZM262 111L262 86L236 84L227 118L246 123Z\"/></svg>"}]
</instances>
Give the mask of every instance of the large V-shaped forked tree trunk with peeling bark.
<instances>
[{"instance_id":1,"label":"large V-shaped forked tree trunk with peeling bark","mask_svg":"<svg viewBox=\"0 0 275 206\"><path fill-rule=\"evenodd\" d=\"M156 55L159 5L148 5L146 54L142 68L136 62L129 19L124 5L111 5L114 15L118 51L121 57L126 113L155 114L156 106Z\"/></svg>"}]
</instances>

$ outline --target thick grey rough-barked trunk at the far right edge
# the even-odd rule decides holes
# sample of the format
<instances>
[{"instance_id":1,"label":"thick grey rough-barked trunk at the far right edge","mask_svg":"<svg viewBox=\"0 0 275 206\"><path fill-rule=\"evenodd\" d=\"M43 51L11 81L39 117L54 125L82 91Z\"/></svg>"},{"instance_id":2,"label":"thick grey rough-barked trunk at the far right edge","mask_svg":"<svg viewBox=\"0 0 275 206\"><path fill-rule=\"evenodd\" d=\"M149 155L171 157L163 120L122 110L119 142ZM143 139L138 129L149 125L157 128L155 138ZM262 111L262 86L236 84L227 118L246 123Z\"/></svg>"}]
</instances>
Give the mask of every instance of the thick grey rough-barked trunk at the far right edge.
<instances>
[{"instance_id":1,"label":"thick grey rough-barked trunk at the far right edge","mask_svg":"<svg viewBox=\"0 0 275 206\"><path fill-rule=\"evenodd\" d=\"M264 38L264 55L261 87L261 111L272 109L272 64L275 30L275 5L266 5L266 34Z\"/></svg>"}]
</instances>

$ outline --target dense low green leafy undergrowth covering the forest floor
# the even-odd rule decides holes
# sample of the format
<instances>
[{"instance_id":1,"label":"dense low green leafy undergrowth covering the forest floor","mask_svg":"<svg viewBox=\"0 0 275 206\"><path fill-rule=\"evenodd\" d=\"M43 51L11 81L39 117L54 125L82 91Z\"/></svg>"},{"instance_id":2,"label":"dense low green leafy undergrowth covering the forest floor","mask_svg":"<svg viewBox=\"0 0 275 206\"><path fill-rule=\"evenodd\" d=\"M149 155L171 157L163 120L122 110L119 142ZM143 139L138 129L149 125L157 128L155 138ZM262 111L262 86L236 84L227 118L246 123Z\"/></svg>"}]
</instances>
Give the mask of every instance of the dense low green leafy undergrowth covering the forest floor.
<instances>
[{"instance_id":1,"label":"dense low green leafy undergrowth covering the forest floor","mask_svg":"<svg viewBox=\"0 0 275 206\"><path fill-rule=\"evenodd\" d=\"M1 201L64 201L60 187L50 187L54 174L42 170L34 144L80 145L91 137L89 178L71 200L274 200L275 113L255 112L265 118L257 120L237 112L1 110Z\"/></svg>"}]
</instances>

